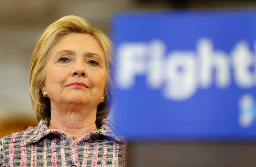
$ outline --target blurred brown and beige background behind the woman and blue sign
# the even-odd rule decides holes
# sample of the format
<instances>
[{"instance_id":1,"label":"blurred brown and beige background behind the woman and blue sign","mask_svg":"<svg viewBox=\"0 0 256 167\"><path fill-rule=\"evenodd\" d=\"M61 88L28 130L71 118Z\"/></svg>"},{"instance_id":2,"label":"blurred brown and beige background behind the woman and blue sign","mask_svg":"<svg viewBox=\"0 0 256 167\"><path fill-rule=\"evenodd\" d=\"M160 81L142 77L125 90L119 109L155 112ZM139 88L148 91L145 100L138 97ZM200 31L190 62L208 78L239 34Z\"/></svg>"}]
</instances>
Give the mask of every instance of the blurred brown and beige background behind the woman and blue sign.
<instances>
[{"instance_id":1,"label":"blurred brown and beige background behind the woman and blue sign","mask_svg":"<svg viewBox=\"0 0 256 167\"><path fill-rule=\"evenodd\" d=\"M45 27L62 16L85 17L94 27L113 38L113 16L120 12L216 9L256 11L256 1L251 0L2 0L0 4L0 138L37 125L29 93L31 55ZM250 97L245 97L248 98ZM250 103L250 99L246 102ZM114 121L112 113L108 119ZM251 129L250 134L253 130L255 129ZM148 141L141 137L140 140L131 140L128 145L128 165L256 165L255 135L247 140L195 139Z\"/></svg>"}]
</instances>

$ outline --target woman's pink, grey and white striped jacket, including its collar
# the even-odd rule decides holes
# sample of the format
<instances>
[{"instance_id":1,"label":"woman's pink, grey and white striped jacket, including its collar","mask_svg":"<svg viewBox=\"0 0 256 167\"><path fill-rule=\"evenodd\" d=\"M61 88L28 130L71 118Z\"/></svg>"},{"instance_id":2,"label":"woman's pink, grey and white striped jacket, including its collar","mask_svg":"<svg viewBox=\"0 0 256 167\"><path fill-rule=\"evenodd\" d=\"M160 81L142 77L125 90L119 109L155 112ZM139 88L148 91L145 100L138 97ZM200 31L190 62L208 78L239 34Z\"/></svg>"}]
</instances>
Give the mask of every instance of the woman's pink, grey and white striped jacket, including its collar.
<instances>
[{"instance_id":1,"label":"woman's pink, grey and white striped jacket, including its collar","mask_svg":"<svg viewBox=\"0 0 256 167\"><path fill-rule=\"evenodd\" d=\"M0 166L126 166L126 141L115 135L109 120L103 118L98 122L99 130L75 143L63 131L49 129L50 119L44 118L37 127L0 139Z\"/></svg>"}]
</instances>

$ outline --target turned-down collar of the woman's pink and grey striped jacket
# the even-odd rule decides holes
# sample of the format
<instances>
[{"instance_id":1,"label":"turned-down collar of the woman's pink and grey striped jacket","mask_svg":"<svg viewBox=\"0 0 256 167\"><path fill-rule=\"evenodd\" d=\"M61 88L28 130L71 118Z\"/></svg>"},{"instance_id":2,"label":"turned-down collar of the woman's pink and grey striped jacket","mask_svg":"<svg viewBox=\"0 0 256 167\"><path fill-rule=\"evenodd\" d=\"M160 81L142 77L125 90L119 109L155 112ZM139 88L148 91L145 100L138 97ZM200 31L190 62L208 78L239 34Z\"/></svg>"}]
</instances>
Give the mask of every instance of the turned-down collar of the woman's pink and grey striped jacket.
<instances>
[{"instance_id":1,"label":"turned-down collar of the woman's pink and grey striped jacket","mask_svg":"<svg viewBox=\"0 0 256 167\"><path fill-rule=\"evenodd\" d=\"M26 143L38 142L43 137L50 134L66 136L67 139L70 139L72 141L72 139L68 137L67 134L65 134L62 130L49 129L49 124L50 124L50 118L44 118L39 121L37 127L28 127L28 129L26 129L24 132L26 133L26 139L27 139ZM110 123L110 121L107 120L106 118L102 118L98 120L97 126L100 127L99 130L96 130L84 135L81 139L77 141L77 143L79 144L81 141L84 141L84 140L97 140L99 135L103 135L104 138L108 140L115 140L120 143L126 142L124 137L120 135L117 136L115 134L115 128Z\"/></svg>"}]
</instances>

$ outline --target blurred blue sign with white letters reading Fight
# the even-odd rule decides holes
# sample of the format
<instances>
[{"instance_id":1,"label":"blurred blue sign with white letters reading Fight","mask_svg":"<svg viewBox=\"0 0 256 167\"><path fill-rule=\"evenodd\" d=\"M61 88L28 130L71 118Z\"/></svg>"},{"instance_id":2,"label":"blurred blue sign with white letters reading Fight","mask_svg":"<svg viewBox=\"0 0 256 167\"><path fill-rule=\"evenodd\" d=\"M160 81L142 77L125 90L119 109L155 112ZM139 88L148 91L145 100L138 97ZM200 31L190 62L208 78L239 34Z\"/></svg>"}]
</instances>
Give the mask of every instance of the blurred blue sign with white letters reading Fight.
<instances>
[{"instance_id":1,"label":"blurred blue sign with white letters reading Fight","mask_svg":"<svg viewBox=\"0 0 256 167\"><path fill-rule=\"evenodd\" d=\"M112 32L118 133L256 139L256 11L119 13Z\"/></svg>"}]
</instances>

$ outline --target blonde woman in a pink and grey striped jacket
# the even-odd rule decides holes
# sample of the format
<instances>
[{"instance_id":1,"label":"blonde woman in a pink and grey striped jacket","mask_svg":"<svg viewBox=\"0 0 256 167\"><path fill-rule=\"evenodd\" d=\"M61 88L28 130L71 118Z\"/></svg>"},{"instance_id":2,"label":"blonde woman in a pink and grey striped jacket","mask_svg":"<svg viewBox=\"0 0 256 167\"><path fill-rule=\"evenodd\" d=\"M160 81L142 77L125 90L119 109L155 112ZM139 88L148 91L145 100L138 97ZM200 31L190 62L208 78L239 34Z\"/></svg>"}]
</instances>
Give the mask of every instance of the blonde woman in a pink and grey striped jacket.
<instances>
[{"instance_id":1,"label":"blonde woman in a pink and grey striped jacket","mask_svg":"<svg viewBox=\"0 0 256 167\"><path fill-rule=\"evenodd\" d=\"M111 42L78 16L48 26L35 46L30 94L38 126L0 139L0 166L126 166L126 144L105 118Z\"/></svg>"}]
</instances>

